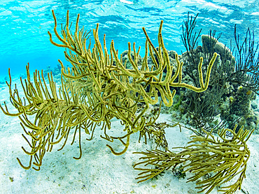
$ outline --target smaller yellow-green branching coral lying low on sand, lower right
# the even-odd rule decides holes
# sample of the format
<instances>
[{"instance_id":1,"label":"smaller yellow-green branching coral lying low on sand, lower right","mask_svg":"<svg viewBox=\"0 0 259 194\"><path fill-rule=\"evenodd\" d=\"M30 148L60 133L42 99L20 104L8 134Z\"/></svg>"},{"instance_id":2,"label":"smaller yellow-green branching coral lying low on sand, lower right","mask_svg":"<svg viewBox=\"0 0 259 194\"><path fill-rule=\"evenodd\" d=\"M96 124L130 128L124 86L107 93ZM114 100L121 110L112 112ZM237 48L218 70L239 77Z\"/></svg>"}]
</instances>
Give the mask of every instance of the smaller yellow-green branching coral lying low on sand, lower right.
<instances>
[{"instance_id":1,"label":"smaller yellow-green branching coral lying low on sand, lower right","mask_svg":"<svg viewBox=\"0 0 259 194\"><path fill-rule=\"evenodd\" d=\"M196 184L199 186L196 188L202 188L198 193L203 191L210 193L216 186L221 186L239 175L235 182L231 182L230 186L222 186L218 190L234 193L237 188L241 189L241 183L246 177L246 163L250 156L246 141L253 133L253 130L249 132L243 128L239 128L238 133L235 133L236 129L237 126L233 130L228 128L218 130L218 137L211 135L212 130L211 132L204 130L204 133L207 134L206 137L191 136L193 140L188 142L190 145L178 147L178 149L183 149L179 153L158 149L137 152L137 154L146 155L140 158L145 161L134 165L135 169L143 171L137 179L141 179L139 182L146 181L171 167L174 171L176 166L182 165L182 173L193 172L195 174L188 178L188 181L197 181ZM227 131L232 133L231 139L226 137ZM155 168L137 167L141 164L145 164L144 166L154 165ZM209 173L212 173L211 177L198 180Z\"/></svg>"}]
</instances>

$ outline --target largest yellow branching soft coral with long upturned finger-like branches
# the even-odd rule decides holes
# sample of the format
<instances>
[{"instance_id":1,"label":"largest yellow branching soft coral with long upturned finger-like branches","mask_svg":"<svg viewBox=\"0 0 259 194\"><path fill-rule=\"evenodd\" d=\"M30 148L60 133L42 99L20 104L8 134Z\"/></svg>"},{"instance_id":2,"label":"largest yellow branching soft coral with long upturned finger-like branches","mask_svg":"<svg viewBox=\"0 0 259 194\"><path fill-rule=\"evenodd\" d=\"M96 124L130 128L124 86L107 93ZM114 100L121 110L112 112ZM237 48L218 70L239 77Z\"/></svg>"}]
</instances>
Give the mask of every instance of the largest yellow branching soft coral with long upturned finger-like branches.
<instances>
[{"instance_id":1,"label":"largest yellow branching soft coral with long upturned finger-like branches","mask_svg":"<svg viewBox=\"0 0 259 194\"><path fill-rule=\"evenodd\" d=\"M31 81L29 74L29 66L27 66L27 80L22 87L25 93L25 98L18 94L18 89L12 93L11 77L8 84L10 91L10 100L13 106L18 110L18 113L11 114L5 105L5 109L1 110L9 116L19 116L27 136L31 137L31 142L25 135L25 140L28 142L31 151L22 148L26 154L31 156L29 166L20 165L25 169L36 165L36 170L39 170L45 151L51 151L54 144L64 140L60 149L64 147L68 140L69 133L74 130L72 144L78 135L80 155L82 155L80 145L81 130L90 135L87 140L92 140L94 129L101 126L104 130L105 140L113 142L119 140L125 146L125 149L116 152L110 145L107 145L113 154L120 155L127 151L130 145L130 135L141 131L144 127L153 126L156 118L149 120L145 119L143 114L148 110L149 104L158 103L158 91L161 94L163 103L166 106L171 106L173 97L176 91L171 91L170 87L186 87L196 92L205 91L209 85L209 77L211 68L217 54L211 59L207 67L207 75L203 80L202 63L200 58L198 65L200 87L194 87L190 84L182 83L182 66L179 57L176 54L177 67L173 74L173 66L170 64L167 50L162 39L162 23L158 32L158 50L151 43L146 29L143 28L146 36L145 57L143 61L139 61L137 56L139 50L136 50L133 44L134 59L131 57L132 47L128 43L128 59L132 68L126 68L126 62L123 63L122 57L119 59L118 52L114 47L114 42L111 42L111 49L106 47L105 35L102 43L99 41L97 24L93 30L94 46L92 50L90 45L87 46L87 31L84 28L79 29L79 15L76 20L76 31L72 34L69 29L69 11L66 16L66 25L61 31L61 35L57 32L57 20L52 11L55 21L54 33L61 44L55 43L50 36L50 42L57 47L65 47L69 52L64 52L65 57L71 62L71 68L65 68L62 61L59 63L62 66L62 86L57 90L55 82L52 80L52 75L48 74L49 88L43 77L43 73L34 73L34 80ZM148 67L148 52L153 59L154 66ZM110 54L109 54L110 53ZM158 61L155 59L154 54ZM167 68L165 77L162 76L163 70ZM9 72L10 75L10 72ZM178 77L178 80L176 78ZM144 103L144 109L137 114L138 103ZM29 121L27 115L35 115L33 122ZM124 126L125 135L121 137L113 137L107 134L107 130L111 128L111 119L120 119ZM29 128L29 130L26 130ZM126 141L125 141L126 139ZM161 140L163 141L163 140ZM160 142L162 143L162 142ZM60 150L59 149L59 150Z\"/></svg>"}]
</instances>

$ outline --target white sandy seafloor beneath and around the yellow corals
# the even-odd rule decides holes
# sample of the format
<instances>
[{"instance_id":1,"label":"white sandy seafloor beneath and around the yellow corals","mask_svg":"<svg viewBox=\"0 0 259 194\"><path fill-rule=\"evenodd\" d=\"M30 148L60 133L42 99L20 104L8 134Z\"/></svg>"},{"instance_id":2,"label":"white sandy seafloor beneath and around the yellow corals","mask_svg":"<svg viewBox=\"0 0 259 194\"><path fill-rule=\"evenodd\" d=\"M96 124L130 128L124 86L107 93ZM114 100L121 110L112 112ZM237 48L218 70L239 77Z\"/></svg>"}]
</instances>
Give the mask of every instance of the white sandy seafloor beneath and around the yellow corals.
<instances>
[{"instance_id":1,"label":"white sandy seafloor beneath and around the yellow corals","mask_svg":"<svg viewBox=\"0 0 259 194\"><path fill-rule=\"evenodd\" d=\"M13 80L14 83L18 80ZM18 87L19 91L22 89ZM0 84L0 103L8 102L8 87ZM10 112L13 107L8 103ZM158 121L163 122L170 119L169 114L161 114ZM130 147L122 156L114 156L106 144L111 144L116 151L122 151L123 145L116 141L113 143L102 139L101 130L95 130L92 141L84 140L86 135L81 137L83 156L78 157L78 140L71 146L71 137L61 151L57 151L61 144L55 145L52 152L45 154L43 165L40 171L32 168L24 170L20 167L17 157L24 165L29 163L29 156L22 151L21 147L27 146L22 137L22 127L18 117L7 117L0 111L0 193L197 193L195 183L186 183L186 179L177 179L168 170L158 179L148 180L137 184L137 174L132 165L139 161L142 155L132 154L134 151L146 151L155 149L155 144L144 144L138 142L139 133L131 135ZM113 120L111 133L122 130L120 121ZM111 134L109 133L109 134ZM186 146L192 132L182 128L180 133L178 127L167 128L166 137L169 148ZM78 136L77 136L78 137ZM78 139L78 138L77 138ZM249 158L246 179L242 184L242 191L236 193L255 194L259 192L259 135L252 135L247 142L251 151ZM220 193L216 188L211 194Z\"/></svg>"}]
</instances>

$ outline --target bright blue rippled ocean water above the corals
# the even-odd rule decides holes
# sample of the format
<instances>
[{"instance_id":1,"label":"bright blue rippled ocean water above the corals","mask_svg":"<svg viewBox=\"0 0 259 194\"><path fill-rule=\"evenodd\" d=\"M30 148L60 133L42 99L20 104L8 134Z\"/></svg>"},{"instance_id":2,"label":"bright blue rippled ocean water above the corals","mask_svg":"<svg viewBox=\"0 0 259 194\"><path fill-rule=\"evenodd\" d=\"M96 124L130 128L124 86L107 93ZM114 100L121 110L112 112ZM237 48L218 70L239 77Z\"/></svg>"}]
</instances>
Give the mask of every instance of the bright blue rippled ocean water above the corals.
<instances>
[{"instance_id":1,"label":"bright blue rippled ocean water above the corals","mask_svg":"<svg viewBox=\"0 0 259 194\"><path fill-rule=\"evenodd\" d=\"M0 77L5 80L8 68L12 75L30 69L44 69L58 65L64 59L64 49L49 41L48 31L53 33L54 21L51 10L55 10L58 27L66 22L66 10L75 24L80 14L80 27L94 29L99 23L99 37L106 34L106 43L115 41L119 52L127 50L128 42L141 46L144 57L145 36L142 27L155 45L160 20L164 20L162 35L167 50L185 51L181 41L183 20L197 15L197 31L206 34L210 29L223 33L221 42L229 44L234 39L233 30L245 36L246 29L255 33L259 40L258 0L1 0L0 2ZM68 62L66 62L68 64Z\"/></svg>"}]
</instances>

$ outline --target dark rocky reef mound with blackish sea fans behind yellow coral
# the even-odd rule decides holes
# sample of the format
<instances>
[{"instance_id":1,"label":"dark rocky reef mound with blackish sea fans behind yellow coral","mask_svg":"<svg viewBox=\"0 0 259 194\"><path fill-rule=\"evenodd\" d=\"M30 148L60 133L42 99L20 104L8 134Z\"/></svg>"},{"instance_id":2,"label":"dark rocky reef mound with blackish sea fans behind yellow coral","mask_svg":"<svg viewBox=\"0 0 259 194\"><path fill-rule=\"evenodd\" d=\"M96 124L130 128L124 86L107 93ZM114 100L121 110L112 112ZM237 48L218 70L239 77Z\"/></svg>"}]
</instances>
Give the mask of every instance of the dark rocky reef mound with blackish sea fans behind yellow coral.
<instances>
[{"instance_id":1,"label":"dark rocky reef mound with blackish sea fans behind yellow coral","mask_svg":"<svg viewBox=\"0 0 259 194\"><path fill-rule=\"evenodd\" d=\"M183 61L183 80L197 85L197 70L195 63L203 57L203 70L207 70L207 64L214 52L218 54L211 70L211 81L208 89L202 93L180 89L176 92L179 100L175 110L180 117L177 121L191 124L197 128L197 133L204 128L210 131L214 127L214 133L219 128L238 128L244 126L248 130L255 128L259 131L259 117L257 106L251 106L256 95L259 94L259 44L255 43L254 33L247 29L245 37L239 36L237 26L234 30L235 45L230 48L219 42L221 33L209 31L207 35L201 35L202 29L196 31L195 17L189 17L182 26L181 39L186 47L186 52L181 54ZM198 45L201 38L202 46ZM241 41L243 40L243 41ZM180 103L181 102L181 103ZM221 123L223 126L218 127ZM199 132L200 130L200 132Z\"/></svg>"}]
</instances>

